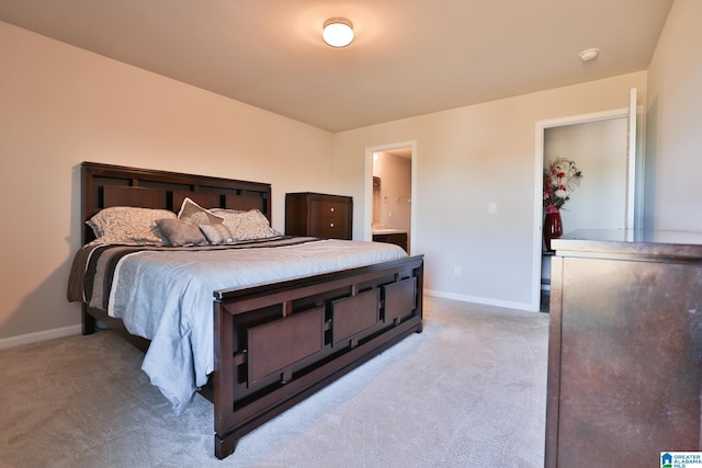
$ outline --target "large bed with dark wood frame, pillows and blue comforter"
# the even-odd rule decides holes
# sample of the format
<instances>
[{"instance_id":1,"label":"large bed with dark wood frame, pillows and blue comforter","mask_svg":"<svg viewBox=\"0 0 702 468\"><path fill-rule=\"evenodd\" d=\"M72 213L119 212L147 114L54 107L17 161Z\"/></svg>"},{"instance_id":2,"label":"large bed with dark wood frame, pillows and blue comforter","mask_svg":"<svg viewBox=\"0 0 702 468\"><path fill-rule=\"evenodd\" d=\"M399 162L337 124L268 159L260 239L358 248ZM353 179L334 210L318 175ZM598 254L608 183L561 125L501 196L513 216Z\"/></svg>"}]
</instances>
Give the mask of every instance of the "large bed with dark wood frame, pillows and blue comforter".
<instances>
[{"instance_id":1,"label":"large bed with dark wood frame, pillows and blue comforter","mask_svg":"<svg viewBox=\"0 0 702 468\"><path fill-rule=\"evenodd\" d=\"M194 391L210 399L217 458L230 455L248 432L422 330L421 255L378 242L275 232L270 184L83 162L81 196L83 248L73 259L68 297L82 303L83 334L102 323L145 351L143 369L177 413ZM151 231L161 240L167 232L172 244L95 242L94 219L123 208L166 213L174 220L159 219L160 230ZM203 222L197 233L205 242L170 228L191 212L186 220ZM207 226L206 217L238 220L241 214L258 216L254 225L270 236L225 241L217 226Z\"/></svg>"}]
</instances>

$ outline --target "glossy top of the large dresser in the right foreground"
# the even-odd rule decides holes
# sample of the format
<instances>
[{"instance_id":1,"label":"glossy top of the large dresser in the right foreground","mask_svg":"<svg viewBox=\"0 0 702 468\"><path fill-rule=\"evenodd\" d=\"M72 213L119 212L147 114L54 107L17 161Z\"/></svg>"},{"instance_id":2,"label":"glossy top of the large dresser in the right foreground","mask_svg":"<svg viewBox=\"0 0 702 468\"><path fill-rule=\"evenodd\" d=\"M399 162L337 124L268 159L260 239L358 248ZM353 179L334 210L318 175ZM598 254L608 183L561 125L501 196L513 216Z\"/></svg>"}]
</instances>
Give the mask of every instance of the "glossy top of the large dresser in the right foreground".
<instances>
[{"instance_id":1,"label":"glossy top of the large dresser in the right foreground","mask_svg":"<svg viewBox=\"0 0 702 468\"><path fill-rule=\"evenodd\" d=\"M580 229L553 239L552 248L556 255L562 256L581 256L586 252L592 252L702 259L702 232Z\"/></svg>"}]
</instances>

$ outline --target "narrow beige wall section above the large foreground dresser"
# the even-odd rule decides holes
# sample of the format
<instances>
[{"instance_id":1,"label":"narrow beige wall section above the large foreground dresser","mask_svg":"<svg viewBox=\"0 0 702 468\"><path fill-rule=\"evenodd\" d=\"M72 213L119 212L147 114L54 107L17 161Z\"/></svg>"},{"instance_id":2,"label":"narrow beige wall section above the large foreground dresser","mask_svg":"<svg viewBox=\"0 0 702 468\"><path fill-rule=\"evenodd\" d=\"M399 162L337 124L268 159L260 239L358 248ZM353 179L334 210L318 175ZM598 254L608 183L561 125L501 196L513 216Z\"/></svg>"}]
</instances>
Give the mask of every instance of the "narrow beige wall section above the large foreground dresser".
<instances>
[{"instance_id":1,"label":"narrow beige wall section above the large foreground dresser","mask_svg":"<svg viewBox=\"0 0 702 468\"><path fill-rule=\"evenodd\" d=\"M702 1L676 0L648 68L645 227L702 231Z\"/></svg>"}]
</instances>

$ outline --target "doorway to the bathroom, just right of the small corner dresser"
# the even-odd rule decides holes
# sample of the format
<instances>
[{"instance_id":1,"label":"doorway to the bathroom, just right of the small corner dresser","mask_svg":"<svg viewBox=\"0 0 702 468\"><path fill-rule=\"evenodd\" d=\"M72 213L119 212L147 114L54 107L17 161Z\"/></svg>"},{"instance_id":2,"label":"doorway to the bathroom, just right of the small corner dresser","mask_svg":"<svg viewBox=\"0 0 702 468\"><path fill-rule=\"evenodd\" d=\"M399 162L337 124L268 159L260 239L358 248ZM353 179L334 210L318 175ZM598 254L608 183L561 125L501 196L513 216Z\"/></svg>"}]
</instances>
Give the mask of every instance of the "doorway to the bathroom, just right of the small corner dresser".
<instances>
[{"instance_id":1,"label":"doorway to the bathroom, just right of the small corner dresser","mask_svg":"<svg viewBox=\"0 0 702 468\"><path fill-rule=\"evenodd\" d=\"M414 141L366 149L366 240L411 251L416 162Z\"/></svg>"}]
</instances>

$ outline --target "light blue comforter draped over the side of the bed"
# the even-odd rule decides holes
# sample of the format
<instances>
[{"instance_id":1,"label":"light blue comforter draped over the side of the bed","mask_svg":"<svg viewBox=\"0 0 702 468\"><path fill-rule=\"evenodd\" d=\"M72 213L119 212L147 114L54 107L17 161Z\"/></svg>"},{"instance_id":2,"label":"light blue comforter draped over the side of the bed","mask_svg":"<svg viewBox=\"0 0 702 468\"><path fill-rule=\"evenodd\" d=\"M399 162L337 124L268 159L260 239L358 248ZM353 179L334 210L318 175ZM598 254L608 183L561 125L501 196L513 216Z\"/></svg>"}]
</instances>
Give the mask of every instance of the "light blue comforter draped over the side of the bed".
<instances>
[{"instance_id":1,"label":"light blue comforter draped over the side of the bed","mask_svg":"<svg viewBox=\"0 0 702 468\"><path fill-rule=\"evenodd\" d=\"M272 249L141 251L115 270L107 312L151 340L141 368L181 414L214 370L213 292L406 256L393 244L319 240Z\"/></svg>"}]
</instances>

